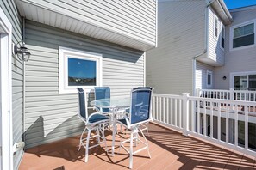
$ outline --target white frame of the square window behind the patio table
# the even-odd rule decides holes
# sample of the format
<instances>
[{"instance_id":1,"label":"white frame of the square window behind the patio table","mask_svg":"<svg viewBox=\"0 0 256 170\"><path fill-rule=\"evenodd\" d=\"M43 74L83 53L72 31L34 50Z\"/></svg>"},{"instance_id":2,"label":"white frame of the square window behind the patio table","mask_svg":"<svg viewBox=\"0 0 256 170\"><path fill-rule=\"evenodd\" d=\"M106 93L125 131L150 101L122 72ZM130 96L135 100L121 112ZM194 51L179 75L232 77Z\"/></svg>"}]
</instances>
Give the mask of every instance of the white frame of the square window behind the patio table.
<instances>
[{"instance_id":1,"label":"white frame of the square window behind the patio table","mask_svg":"<svg viewBox=\"0 0 256 170\"><path fill-rule=\"evenodd\" d=\"M95 86L68 86L68 58L95 61L97 64L96 86L103 84L103 55L59 46L59 94L77 93L77 87L90 92Z\"/></svg>"}]
</instances>

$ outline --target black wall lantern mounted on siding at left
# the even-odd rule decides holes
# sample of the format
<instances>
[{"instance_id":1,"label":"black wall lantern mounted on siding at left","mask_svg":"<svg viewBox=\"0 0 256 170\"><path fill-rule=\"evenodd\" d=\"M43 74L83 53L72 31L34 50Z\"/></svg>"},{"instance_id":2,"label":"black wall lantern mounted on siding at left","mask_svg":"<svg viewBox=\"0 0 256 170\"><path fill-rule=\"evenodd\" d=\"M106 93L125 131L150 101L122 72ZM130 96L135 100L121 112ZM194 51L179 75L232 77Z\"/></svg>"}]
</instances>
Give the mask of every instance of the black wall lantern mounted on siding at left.
<instances>
[{"instance_id":1,"label":"black wall lantern mounted on siding at left","mask_svg":"<svg viewBox=\"0 0 256 170\"><path fill-rule=\"evenodd\" d=\"M23 43L22 41L18 42L15 46L14 46L14 52L15 54L17 54L17 57L22 60L22 61L28 61L28 59L30 58L31 53L28 52L28 48L25 46L25 43Z\"/></svg>"}]
</instances>

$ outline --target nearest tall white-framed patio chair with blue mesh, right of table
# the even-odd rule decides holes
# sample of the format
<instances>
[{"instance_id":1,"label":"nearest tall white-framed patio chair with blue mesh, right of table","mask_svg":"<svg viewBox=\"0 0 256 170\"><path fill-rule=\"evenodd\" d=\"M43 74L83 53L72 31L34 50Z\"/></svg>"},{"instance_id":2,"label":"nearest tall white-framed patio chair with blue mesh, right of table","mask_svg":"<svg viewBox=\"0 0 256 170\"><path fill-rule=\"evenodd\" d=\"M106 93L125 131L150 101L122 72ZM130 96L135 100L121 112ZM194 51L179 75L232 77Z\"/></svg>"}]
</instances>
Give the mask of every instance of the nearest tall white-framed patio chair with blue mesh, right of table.
<instances>
[{"instance_id":1,"label":"nearest tall white-framed patio chair with blue mesh, right of table","mask_svg":"<svg viewBox=\"0 0 256 170\"><path fill-rule=\"evenodd\" d=\"M144 127L141 128L141 125L147 124L149 121L152 121L151 115L151 95L152 88L134 88L131 91L131 105L130 105L130 113L125 118L119 119L118 123L124 125L128 132L130 133L130 138L124 141L121 140L120 147L122 147L129 154L129 167L133 167L133 155L140 152L141 150L147 149L147 153L151 158L148 149L147 138L145 137L143 130ZM144 138L144 141L140 140L138 134ZM144 148L133 151L133 143L137 143L140 141L145 145ZM129 149L124 147L123 143L130 143Z\"/></svg>"}]
</instances>

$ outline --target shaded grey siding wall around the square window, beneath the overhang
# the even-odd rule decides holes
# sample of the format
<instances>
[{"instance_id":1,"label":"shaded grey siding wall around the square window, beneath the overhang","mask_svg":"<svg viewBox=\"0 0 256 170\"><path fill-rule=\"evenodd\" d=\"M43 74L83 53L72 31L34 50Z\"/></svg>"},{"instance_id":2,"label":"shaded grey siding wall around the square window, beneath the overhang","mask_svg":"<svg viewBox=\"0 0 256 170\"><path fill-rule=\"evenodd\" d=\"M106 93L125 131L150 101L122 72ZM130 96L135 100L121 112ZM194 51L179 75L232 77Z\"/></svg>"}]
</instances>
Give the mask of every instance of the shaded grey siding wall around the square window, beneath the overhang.
<instances>
[{"instance_id":1,"label":"shaded grey siding wall around the square window, beneath the overhang","mask_svg":"<svg viewBox=\"0 0 256 170\"><path fill-rule=\"evenodd\" d=\"M78 94L59 94L59 46L103 54L103 86L111 96L129 96L144 85L144 52L26 21L32 53L26 65L26 144L33 147L80 134Z\"/></svg>"}]
</instances>

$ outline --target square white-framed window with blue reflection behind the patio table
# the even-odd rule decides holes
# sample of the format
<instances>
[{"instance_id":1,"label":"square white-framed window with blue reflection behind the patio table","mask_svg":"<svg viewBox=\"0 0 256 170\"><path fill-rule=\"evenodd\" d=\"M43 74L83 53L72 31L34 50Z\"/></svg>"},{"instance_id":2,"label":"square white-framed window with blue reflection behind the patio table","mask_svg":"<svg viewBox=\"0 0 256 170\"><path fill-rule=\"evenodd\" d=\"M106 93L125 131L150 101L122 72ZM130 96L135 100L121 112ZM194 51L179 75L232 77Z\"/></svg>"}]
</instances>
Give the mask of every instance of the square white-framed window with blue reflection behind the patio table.
<instances>
[{"instance_id":1,"label":"square white-framed window with blue reflection behind the patio table","mask_svg":"<svg viewBox=\"0 0 256 170\"><path fill-rule=\"evenodd\" d=\"M102 86L102 55L59 47L59 94Z\"/></svg>"}]
</instances>

